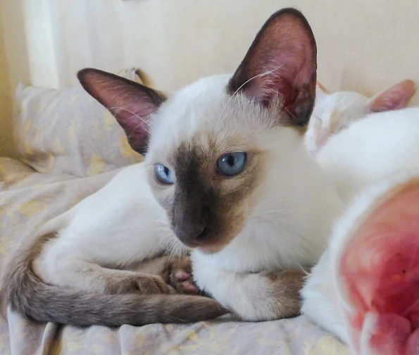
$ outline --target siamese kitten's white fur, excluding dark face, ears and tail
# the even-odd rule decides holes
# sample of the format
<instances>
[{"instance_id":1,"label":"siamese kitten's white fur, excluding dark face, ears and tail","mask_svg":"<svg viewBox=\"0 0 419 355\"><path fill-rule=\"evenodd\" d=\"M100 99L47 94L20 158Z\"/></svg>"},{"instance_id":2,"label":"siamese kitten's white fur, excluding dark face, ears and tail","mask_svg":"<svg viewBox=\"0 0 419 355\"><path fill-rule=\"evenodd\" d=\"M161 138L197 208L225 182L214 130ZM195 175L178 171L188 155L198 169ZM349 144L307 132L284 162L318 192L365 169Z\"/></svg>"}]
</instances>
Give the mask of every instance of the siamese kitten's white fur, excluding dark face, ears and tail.
<instances>
[{"instance_id":1,"label":"siamese kitten's white fur, excluding dark face, ears and tail","mask_svg":"<svg viewBox=\"0 0 419 355\"><path fill-rule=\"evenodd\" d=\"M192 251L194 279L244 319L275 318L268 278L256 272L315 263L342 202L304 149L301 135L274 125L276 114L244 96L231 99L225 90L228 78L201 79L163 104L151 127L146 161L126 168L75 206L58 237L44 248L37 262L44 280L100 290L104 280L98 275L109 273L106 267L127 266L165 248L173 251L177 239L151 192L173 187L156 184L154 163L170 166L165 156L182 142L207 144L206 137L215 132L215 147L236 138L239 145L230 149L251 144L266 151L267 165L244 229L217 254Z\"/></svg>"}]
</instances>

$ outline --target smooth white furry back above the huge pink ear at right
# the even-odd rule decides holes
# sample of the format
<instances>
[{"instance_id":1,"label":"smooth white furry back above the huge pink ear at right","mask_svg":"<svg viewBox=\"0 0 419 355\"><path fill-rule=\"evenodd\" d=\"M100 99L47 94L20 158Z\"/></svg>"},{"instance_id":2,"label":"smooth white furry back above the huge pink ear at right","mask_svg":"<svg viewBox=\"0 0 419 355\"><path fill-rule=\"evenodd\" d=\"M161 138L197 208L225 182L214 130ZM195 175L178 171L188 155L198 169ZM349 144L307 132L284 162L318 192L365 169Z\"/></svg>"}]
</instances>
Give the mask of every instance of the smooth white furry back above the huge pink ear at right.
<instances>
[{"instance_id":1,"label":"smooth white furry back above the huge pink ear at right","mask_svg":"<svg viewBox=\"0 0 419 355\"><path fill-rule=\"evenodd\" d=\"M419 108L371 113L330 137L317 161L348 201L363 187L419 165Z\"/></svg>"}]
</instances>

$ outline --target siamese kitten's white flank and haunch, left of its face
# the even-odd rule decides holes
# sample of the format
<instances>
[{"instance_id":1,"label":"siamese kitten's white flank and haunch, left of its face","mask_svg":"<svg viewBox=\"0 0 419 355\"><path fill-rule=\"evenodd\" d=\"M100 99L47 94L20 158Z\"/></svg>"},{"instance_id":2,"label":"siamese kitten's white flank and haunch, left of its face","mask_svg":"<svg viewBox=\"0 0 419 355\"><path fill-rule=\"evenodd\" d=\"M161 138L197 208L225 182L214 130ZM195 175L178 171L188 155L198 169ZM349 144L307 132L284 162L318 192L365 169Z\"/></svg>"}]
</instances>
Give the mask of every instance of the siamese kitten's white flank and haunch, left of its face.
<instances>
[{"instance_id":1,"label":"siamese kitten's white flank and haunch, left of its face","mask_svg":"<svg viewBox=\"0 0 419 355\"><path fill-rule=\"evenodd\" d=\"M45 226L41 234L58 230L36 263L46 282L103 292L104 281L93 276L110 269L98 265L122 268L175 245L177 253L186 249L168 229L165 212L146 183L145 168L137 163L121 170L105 187ZM87 278L91 268L94 273Z\"/></svg>"}]
</instances>

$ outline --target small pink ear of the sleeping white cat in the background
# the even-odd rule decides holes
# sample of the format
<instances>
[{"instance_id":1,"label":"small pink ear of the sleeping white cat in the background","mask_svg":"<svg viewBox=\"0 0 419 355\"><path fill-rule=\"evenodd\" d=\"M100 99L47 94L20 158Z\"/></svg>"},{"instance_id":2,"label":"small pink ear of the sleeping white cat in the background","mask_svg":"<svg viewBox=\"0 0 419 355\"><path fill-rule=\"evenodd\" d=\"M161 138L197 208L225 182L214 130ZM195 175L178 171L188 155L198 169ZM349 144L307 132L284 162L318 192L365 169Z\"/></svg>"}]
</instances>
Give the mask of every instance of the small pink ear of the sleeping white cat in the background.
<instances>
[{"instance_id":1,"label":"small pink ear of the sleeping white cat in the background","mask_svg":"<svg viewBox=\"0 0 419 355\"><path fill-rule=\"evenodd\" d=\"M416 91L413 80L403 80L384 92L373 96L368 100L368 108L371 112L383 112L405 108Z\"/></svg>"}]
</instances>

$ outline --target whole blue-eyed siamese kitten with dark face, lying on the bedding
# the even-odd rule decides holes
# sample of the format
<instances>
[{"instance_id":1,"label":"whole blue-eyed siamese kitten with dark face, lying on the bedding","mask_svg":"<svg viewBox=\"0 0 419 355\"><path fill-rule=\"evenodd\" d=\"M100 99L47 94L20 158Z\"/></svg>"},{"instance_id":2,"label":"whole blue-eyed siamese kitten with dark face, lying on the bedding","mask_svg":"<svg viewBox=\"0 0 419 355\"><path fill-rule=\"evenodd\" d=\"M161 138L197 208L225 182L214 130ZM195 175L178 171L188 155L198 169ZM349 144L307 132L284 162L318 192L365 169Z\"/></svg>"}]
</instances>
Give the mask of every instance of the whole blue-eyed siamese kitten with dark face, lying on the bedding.
<instances>
[{"instance_id":1,"label":"whole blue-eyed siamese kitten with dark face, lying on the bedding","mask_svg":"<svg viewBox=\"0 0 419 355\"><path fill-rule=\"evenodd\" d=\"M4 280L11 309L73 325L299 313L302 268L318 261L343 207L303 144L316 83L304 15L273 14L233 75L167 98L100 70L78 77L145 161L23 246ZM191 249L194 281L216 301L166 294L161 278L127 270L165 249Z\"/></svg>"}]
</instances>

